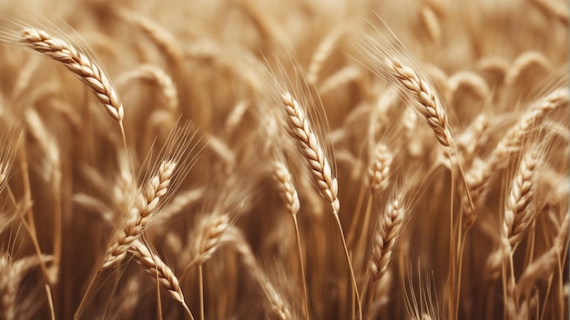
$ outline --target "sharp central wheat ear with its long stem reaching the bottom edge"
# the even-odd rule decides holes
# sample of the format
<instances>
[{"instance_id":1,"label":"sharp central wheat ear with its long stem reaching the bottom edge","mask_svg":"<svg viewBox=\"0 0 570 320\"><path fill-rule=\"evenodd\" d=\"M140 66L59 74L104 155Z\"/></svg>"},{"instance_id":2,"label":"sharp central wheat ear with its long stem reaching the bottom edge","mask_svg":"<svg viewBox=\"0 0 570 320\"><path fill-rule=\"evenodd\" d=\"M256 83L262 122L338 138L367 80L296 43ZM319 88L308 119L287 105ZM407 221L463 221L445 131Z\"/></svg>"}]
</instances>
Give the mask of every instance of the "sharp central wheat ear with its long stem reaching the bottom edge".
<instances>
[{"instance_id":1,"label":"sharp central wheat ear with its long stem reaching the bottom edge","mask_svg":"<svg viewBox=\"0 0 570 320\"><path fill-rule=\"evenodd\" d=\"M338 197L339 185L337 179L332 175L332 168L329 164L329 160L325 155L319 138L310 125L309 118L307 115L305 115L303 107L295 98L293 98L289 92L281 93L280 98L281 103L285 107L288 125L290 128L290 135L292 135L293 138L297 141L300 153L307 161L310 174L312 175L313 180L319 186L321 195L331 205L332 215L334 215L336 223L338 225L342 245L344 247L344 254L346 255L346 261L351 271L351 281L354 289L354 294L356 295L358 302L359 316L362 318L361 298L358 292L358 285L356 285L356 276L354 275L351 257L346 245L346 238L344 236L344 232L342 231L341 218L339 216L341 202L339 201Z\"/></svg>"}]
</instances>

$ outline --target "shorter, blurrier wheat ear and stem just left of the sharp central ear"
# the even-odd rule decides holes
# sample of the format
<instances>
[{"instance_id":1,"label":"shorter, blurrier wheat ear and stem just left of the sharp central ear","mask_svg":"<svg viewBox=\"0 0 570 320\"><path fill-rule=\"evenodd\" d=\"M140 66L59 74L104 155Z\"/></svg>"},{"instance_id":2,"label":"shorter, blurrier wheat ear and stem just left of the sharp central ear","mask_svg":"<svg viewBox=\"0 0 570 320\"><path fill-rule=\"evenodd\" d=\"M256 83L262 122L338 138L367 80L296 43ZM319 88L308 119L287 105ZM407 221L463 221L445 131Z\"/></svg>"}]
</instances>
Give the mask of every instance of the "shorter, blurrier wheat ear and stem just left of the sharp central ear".
<instances>
[{"instance_id":1,"label":"shorter, blurrier wheat ear and stem just left of the sharp central ear","mask_svg":"<svg viewBox=\"0 0 570 320\"><path fill-rule=\"evenodd\" d=\"M299 222L297 220L297 213L299 212L300 208L299 195L297 193L295 185L293 185L293 179L290 175L287 165L281 161L275 161L273 162L272 167L273 178L277 182L281 198L285 202L287 211L289 212L291 219L293 219L293 225L295 226L297 254L299 255L300 275L303 286L303 312L305 313L305 317L309 319L309 295L307 294L307 278L305 276L305 265L303 264L303 253L300 245Z\"/></svg>"}]
</instances>

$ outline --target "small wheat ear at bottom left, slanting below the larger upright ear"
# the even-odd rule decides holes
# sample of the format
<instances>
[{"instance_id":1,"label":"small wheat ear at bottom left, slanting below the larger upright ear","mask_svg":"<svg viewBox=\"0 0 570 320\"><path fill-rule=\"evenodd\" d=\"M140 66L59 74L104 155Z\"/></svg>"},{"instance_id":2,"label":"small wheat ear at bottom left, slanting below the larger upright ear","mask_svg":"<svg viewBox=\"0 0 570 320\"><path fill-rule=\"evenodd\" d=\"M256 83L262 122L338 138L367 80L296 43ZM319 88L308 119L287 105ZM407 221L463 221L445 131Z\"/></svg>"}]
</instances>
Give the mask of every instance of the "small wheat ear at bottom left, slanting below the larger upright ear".
<instances>
[{"instance_id":1,"label":"small wheat ear at bottom left, slanting below the larger upright ear","mask_svg":"<svg viewBox=\"0 0 570 320\"><path fill-rule=\"evenodd\" d=\"M158 255L151 253L147 245L138 239L134 240L129 248L133 252L137 263L145 269L148 275L158 279L158 283L168 290L168 294L184 307L190 319L194 319L190 309L188 309L188 305L184 301L178 278L174 275L172 269Z\"/></svg>"}]
</instances>

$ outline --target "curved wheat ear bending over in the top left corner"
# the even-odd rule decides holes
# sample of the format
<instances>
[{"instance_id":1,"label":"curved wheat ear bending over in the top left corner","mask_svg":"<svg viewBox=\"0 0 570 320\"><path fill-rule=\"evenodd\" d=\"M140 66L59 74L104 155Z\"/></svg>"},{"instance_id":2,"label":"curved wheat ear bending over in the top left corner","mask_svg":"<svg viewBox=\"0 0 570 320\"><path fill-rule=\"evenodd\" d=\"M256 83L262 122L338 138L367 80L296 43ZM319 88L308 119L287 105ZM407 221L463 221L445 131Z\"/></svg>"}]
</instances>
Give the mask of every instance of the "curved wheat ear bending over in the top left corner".
<instances>
[{"instance_id":1,"label":"curved wheat ear bending over in the top left corner","mask_svg":"<svg viewBox=\"0 0 570 320\"><path fill-rule=\"evenodd\" d=\"M107 113L115 120L121 130L123 145L127 149L123 118L125 111L117 89L112 85L103 69L87 55L76 49L64 39L50 35L45 30L26 27L20 31L19 41L34 51L46 55L64 65L67 70L79 77L97 96Z\"/></svg>"}]
</instances>

